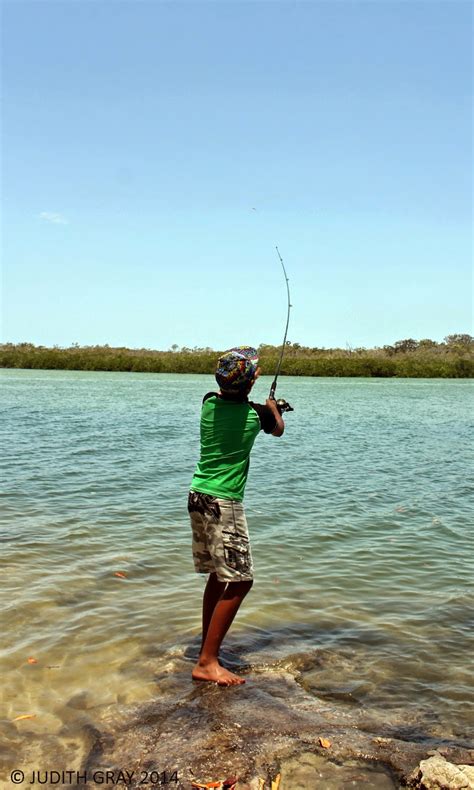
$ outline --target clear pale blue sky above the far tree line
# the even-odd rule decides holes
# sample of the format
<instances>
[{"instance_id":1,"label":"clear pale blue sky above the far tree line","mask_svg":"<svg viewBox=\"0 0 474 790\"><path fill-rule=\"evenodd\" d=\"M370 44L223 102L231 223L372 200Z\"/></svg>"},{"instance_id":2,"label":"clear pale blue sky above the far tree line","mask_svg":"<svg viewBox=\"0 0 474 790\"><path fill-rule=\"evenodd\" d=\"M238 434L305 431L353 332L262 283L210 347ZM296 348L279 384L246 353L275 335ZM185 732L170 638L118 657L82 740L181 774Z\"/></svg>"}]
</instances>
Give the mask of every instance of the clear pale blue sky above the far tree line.
<instances>
[{"instance_id":1,"label":"clear pale blue sky above the far tree line","mask_svg":"<svg viewBox=\"0 0 474 790\"><path fill-rule=\"evenodd\" d=\"M472 333L470 3L2 9L4 342Z\"/></svg>"}]
</instances>

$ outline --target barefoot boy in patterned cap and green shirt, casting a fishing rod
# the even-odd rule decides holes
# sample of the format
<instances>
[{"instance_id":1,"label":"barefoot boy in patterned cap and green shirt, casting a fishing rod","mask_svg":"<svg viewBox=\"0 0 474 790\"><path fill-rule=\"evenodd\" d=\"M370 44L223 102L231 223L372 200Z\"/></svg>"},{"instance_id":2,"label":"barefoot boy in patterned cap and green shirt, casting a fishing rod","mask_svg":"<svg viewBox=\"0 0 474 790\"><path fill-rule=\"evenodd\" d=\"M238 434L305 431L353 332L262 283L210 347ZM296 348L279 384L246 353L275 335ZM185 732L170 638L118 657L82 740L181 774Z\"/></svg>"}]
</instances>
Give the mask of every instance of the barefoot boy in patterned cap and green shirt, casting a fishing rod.
<instances>
[{"instance_id":1,"label":"barefoot boy in patterned cap and green shirt, casting a fishing rod","mask_svg":"<svg viewBox=\"0 0 474 790\"><path fill-rule=\"evenodd\" d=\"M202 643L194 680L220 686L245 683L218 661L219 648L253 584L247 521L242 505L249 455L260 432L281 436L285 425L276 401L252 403L260 375L254 348L240 346L217 363L219 392L204 396L201 457L191 482L188 510L197 573L208 573L202 604Z\"/></svg>"}]
</instances>

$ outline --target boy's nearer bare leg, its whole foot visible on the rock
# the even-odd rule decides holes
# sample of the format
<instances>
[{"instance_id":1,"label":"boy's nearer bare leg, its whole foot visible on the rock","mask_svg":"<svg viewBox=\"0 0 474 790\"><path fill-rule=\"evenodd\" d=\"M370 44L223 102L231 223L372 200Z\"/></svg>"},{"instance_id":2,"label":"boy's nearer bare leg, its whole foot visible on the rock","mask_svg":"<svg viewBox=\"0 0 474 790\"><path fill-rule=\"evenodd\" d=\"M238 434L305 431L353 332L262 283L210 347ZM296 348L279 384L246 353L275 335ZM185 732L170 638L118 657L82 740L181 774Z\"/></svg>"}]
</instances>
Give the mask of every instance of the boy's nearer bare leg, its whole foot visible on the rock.
<instances>
[{"instance_id":1,"label":"boy's nearer bare leg, its whole foot visible on the rock","mask_svg":"<svg viewBox=\"0 0 474 790\"><path fill-rule=\"evenodd\" d=\"M216 578L217 582L217 578ZM210 579L208 580L208 585ZM217 582L222 584L222 582ZM211 583L214 585L214 582ZM201 655L193 670L193 678L195 680L207 680L218 683L221 686L232 686L240 683L245 683L244 678L235 675L233 672L224 669L219 664L218 655L219 648L222 644L227 631L229 630L232 621L237 614L240 604L252 587L252 581L243 582L229 582L221 593L220 598L214 606L209 625L207 627L206 636L203 634L203 646ZM211 589L214 589L213 587ZM206 597L206 591L204 597ZM209 591L209 601L211 600L211 592ZM203 605L203 624L204 624L204 605Z\"/></svg>"}]
</instances>

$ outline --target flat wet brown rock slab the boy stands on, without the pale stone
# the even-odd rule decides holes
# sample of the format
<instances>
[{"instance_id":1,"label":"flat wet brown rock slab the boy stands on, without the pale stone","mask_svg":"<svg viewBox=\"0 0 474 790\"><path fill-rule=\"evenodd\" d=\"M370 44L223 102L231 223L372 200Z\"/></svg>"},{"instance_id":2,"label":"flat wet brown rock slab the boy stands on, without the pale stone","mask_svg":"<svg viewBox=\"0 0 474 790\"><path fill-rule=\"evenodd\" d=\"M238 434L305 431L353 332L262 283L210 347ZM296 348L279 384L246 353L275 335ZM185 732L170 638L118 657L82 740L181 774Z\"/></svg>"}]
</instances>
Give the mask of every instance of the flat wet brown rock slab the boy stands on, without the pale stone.
<instances>
[{"instance_id":1,"label":"flat wet brown rock slab the boy stands on, without the pale stone","mask_svg":"<svg viewBox=\"0 0 474 790\"><path fill-rule=\"evenodd\" d=\"M141 786L143 772L176 770L173 786L182 790L227 776L239 777L236 790L256 790L262 780L270 788L278 773L280 790L394 790L440 745L397 738L379 718L318 699L281 668L254 670L245 685L222 688L191 683L188 662L172 663L159 698L104 711L89 771L126 766L135 772L131 788ZM455 744L444 750L469 758Z\"/></svg>"}]
</instances>

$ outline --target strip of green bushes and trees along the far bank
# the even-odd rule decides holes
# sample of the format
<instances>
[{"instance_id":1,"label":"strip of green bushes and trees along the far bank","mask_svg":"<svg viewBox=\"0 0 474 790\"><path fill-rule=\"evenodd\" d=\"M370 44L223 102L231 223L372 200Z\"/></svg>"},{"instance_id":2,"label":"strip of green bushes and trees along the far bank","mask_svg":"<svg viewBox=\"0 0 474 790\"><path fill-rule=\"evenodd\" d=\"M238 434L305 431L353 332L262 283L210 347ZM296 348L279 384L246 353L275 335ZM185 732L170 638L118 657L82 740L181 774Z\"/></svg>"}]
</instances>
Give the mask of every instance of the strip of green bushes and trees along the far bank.
<instances>
[{"instance_id":1,"label":"strip of green bushes and trees along the far bank","mask_svg":"<svg viewBox=\"0 0 474 790\"><path fill-rule=\"evenodd\" d=\"M219 351L178 348L169 351L79 346L45 348L32 343L0 345L0 367L47 370L123 370L143 373L213 373ZM280 348L261 345L263 374L275 371ZM399 340L383 348L308 348L287 343L281 372L287 376L376 376L473 378L474 338L448 335L434 340Z\"/></svg>"}]
</instances>

